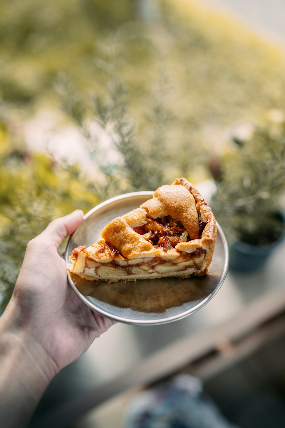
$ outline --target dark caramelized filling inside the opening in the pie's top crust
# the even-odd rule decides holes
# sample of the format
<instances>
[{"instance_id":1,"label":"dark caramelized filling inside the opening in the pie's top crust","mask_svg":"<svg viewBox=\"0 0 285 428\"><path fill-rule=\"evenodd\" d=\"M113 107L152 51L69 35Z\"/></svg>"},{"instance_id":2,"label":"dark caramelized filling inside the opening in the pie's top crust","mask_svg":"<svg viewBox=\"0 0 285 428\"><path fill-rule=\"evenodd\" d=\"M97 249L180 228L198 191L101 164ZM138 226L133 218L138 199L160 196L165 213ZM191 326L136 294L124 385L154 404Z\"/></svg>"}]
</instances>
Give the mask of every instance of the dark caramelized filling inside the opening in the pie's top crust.
<instances>
[{"instance_id":1,"label":"dark caramelized filling inside the opening in the pie's top crust","mask_svg":"<svg viewBox=\"0 0 285 428\"><path fill-rule=\"evenodd\" d=\"M143 235L155 248L162 248L166 252L179 242L188 242L190 239L183 225L170 215L157 219L147 217L146 220L146 224L135 227L134 231Z\"/></svg>"}]
</instances>

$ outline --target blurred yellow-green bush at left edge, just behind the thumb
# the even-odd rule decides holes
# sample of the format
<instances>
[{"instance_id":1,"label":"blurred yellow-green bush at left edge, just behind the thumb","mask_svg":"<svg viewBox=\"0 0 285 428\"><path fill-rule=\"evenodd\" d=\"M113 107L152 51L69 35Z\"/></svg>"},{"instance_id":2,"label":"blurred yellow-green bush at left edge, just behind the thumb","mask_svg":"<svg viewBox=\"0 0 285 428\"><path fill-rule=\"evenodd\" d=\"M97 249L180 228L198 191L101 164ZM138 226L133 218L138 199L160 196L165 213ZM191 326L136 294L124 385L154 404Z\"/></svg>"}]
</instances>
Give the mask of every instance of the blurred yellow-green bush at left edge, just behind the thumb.
<instances>
[{"instance_id":1,"label":"blurred yellow-green bush at left edge, just behind the thumb","mask_svg":"<svg viewBox=\"0 0 285 428\"><path fill-rule=\"evenodd\" d=\"M99 199L92 184L79 179L76 165L65 169L43 154L12 152L3 156L0 181L0 245L5 248L0 261L0 293L5 306L27 242L53 218L77 208L88 211Z\"/></svg>"}]
</instances>

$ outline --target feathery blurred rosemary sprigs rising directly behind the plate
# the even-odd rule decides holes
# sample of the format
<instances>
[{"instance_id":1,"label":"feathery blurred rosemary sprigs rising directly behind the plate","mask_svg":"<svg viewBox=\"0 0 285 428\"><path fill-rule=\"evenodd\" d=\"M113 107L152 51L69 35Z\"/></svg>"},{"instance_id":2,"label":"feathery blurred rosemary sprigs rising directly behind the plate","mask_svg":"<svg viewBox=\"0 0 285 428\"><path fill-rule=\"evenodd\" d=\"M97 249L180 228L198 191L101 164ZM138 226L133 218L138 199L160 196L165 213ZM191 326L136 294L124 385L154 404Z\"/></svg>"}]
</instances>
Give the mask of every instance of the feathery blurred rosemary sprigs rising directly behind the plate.
<instances>
[{"instance_id":1,"label":"feathery blurred rosemary sprigs rising directly behind the plate","mask_svg":"<svg viewBox=\"0 0 285 428\"><path fill-rule=\"evenodd\" d=\"M84 99L65 74L60 74L55 84L63 110L79 126L91 159L101 172L94 182L94 190L101 198L124 191L155 190L163 184L167 160L170 160L164 130L168 114L161 87L154 89L157 91L145 115L147 137L139 138L137 126L129 115L127 86L118 77L122 51L120 35L112 33L106 43L97 45L103 58L97 56L95 64L102 69L107 82L103 95L90 93L88 99ZM103 133L90 132L90 122L96 122ZM120 160L113 163L103 160L103 152L108 149L104 148L104 141L100 141L102 135L103 140L108 136Z\"/></svg>"}]
</instances>

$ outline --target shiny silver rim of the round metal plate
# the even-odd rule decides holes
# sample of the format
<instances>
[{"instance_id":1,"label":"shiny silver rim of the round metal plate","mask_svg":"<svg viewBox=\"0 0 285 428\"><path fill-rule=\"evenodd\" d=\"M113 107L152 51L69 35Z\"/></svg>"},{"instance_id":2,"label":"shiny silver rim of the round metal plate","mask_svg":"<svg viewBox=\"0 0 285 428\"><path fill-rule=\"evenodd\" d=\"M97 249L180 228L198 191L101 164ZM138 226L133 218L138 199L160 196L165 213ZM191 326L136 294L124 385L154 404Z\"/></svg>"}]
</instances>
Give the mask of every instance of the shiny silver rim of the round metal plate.
<instances>
[{"instance_id":1,"label":"shiny silver rim of the round metal plate","mask_svg":"<svg viewBox=\"0 0 285 428\"><path fill-rule=\"evenodd\" d=\"M107 199L106 201L101 202L100 204L91 208L91 210L88 211L84 215L83 221L86 220L94 212L100 210L101 208L103 208L106 205L109 205L112 202L116 202L120 199L131 198L134 196L151 196L151 195L153 195L153 193L154 192L150 191L150 190L139 191L139 192L130 192L130 193L124 193L122 195L118 195L118 196L115 196L113 198ZM79 225L79 227L80 227L80 225ZM67 249L68 249L69 242L71 241L71 238L73 236L73 233L69 236L66 247L65 247L64 259L65 259L66 265L69 264L69 255L67 253ZM103 315L104 317L109 318L113 321L122 322L124 324L131 324L131 325L158 325L158 324L167 324L167 323L170 323L173 321L178 321L179 319L185 318L188 315L191 315L194 312L197 312L199 309L203 308L203 306L205 306L210 300L212 300L212 298L217 294L217 292L220 290L221 286L223 285L223 282L226 278L226 274L227 274L228 269L229 269L229 247L228 247L228 244L226 241L226 237L223 233L223 230L218 223L217 223L217 233L220 235L220 238L223 242L223 247L226 250L225 251L225 263L223 266L223 271L221 274L220 281L219 281L217 287L215 287L214 290L210 294L208 294L203 300L201 300L201 302L199 304L197 304L196 306L194 306L190 309L187 309L184 312L181 312L178 315L171 315L167 318L157 319L157 320L153 320L153 319L152 320L151 319L150 320L133 320L132 318L125 318L125 317L121 317L119 315L112 315L109 312L106 312L103 309L98 308L97 306L95 306L94 304L89 302L89 300L82 293L80 293L80 291L78 290L76 285L73 283L71 276L70 276L70 273L69 273L69 270L67 269L68 283L71 286L71 288L73 289L73 291L75 292L75 294L77 295L77 297L79 297L79 299L82 300L82 302L84 302L87 306L89 306L89 308L91 310L93 310L94 312L97 312L100 315Z\"/></svg>"}]
</instances>

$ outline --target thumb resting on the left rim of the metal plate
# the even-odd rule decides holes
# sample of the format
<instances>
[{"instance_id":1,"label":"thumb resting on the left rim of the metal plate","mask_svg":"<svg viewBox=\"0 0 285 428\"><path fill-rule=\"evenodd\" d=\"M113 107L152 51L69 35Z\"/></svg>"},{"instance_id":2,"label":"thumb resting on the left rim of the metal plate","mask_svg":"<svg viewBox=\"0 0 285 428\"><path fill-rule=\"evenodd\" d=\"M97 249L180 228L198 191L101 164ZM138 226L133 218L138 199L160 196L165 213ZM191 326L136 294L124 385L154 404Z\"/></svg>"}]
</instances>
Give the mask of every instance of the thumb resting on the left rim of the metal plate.
<instances>
[{"instance_id":1,"label":"thumb resting on the left rim of the metal plate","mask_svg":"<svg viewBox=\"0 0 285 428\"><path fill-rule=\"evenodd\" d=\"M53 220L35 241L51 245L58 248L64 238L71 235L82 222L83 211L76 210L65 217L59 217Z\"/></svg>"}]
</instances>

